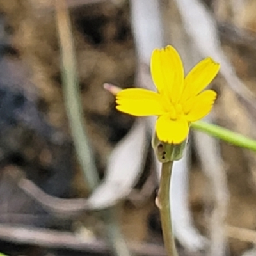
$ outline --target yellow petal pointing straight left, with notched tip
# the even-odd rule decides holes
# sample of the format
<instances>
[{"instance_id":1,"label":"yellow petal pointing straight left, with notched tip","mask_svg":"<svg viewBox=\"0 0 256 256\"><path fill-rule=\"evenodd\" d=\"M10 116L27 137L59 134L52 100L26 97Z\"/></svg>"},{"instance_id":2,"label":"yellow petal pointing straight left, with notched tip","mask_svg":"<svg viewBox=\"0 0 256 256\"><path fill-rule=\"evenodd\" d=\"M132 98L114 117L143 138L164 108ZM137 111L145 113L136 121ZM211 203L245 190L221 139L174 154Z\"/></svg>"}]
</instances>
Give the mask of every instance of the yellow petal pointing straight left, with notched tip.
<instances>
[{"instance_id":1,"label":"yellow petal pointing straight left, with notched tip","mask_svg":"<svg viewBox=\"0 0 256 256\"><path fill-rule=\"evenodd\" d=\"M134 116L163 115L161 96L141 88L125 89L116 95L116 109Z\"/></svg>"}]
</instances>

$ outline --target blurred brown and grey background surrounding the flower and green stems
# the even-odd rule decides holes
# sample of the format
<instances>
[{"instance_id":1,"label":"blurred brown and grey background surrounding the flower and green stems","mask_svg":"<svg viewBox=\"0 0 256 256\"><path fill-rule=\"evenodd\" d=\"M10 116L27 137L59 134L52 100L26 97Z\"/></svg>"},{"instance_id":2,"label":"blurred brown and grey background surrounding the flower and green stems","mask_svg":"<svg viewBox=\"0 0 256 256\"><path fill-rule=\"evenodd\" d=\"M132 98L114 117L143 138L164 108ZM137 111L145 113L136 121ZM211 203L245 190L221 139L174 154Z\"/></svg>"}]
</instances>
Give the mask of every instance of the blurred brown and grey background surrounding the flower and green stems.
<instances>
[{"instance_id":1,"label":"blurred brown and grey background surrounding the flower and green stems","mask_svg":"<svg viewBox=\"0 0 256 256\"><path fill-rule=\"evenodd\" d=\"M166 255L154 203L154 120L118 113L102 85L154 90L150 55L167 44L180 52L186 72L211 56L221 70L205 121L256 139L256 1L65 1L100 180L94 191L70 132L58 39L67 28L60 20L56 26L55 3L0 0L0 252ZM256 255L255 156L190 132L186 156L173 171L179 255Z\"/></svg>"}]
</instances>

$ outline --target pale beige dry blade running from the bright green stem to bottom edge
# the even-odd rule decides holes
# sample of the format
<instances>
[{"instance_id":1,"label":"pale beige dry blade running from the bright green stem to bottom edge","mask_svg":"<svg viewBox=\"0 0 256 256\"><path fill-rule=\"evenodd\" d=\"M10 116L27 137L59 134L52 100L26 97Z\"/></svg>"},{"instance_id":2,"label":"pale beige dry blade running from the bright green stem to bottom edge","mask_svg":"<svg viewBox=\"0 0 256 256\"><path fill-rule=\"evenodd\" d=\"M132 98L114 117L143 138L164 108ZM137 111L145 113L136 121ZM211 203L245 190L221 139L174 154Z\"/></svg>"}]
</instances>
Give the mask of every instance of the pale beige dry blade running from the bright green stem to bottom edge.
<instances>
[{"instance_id":1,"label":"pale beige dry blade running from the bright green stem to bottom edge","mask_svg":"<svg viewBox=\"0 0 256 256\"><path fill-rule=\"evenodd\" d=\"M207 120L211 120L211 118L208 117ZM209 223L210 255L225 255L227 249L225 218L227 216L228 187L220 156L220 145L214 138L201 132L194 132L194 137L202 170L211 184L214 198L214 210L211 215L211 223Z\"/></svg>"}]
</instances>

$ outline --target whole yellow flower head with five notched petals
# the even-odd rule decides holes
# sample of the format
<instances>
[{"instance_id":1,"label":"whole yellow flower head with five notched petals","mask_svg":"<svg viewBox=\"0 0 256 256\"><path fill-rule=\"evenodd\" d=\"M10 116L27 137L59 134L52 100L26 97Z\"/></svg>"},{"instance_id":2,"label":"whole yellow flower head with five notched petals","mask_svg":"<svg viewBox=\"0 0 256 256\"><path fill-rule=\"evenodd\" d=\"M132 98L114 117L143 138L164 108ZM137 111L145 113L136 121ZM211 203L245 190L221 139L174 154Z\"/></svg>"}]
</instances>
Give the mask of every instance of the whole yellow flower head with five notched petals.
<instances>
[{"instance_id":1,"label":"whole yellow flower head with five notched petals","mask_svg":"<svg viewBox=\"0 0 256 256\"><path fill-rule=\"evenodd\" d=\"M142 88L122 90L116 95L116 109L134 116L158 116L157 138L180 144L188 136L190 122L211 111L216 92L202 90L214 79L220 64L205 58L184 77L180 56L168 45L152 52L150 66L157 92Z\"/></svg>"}]
</instances>

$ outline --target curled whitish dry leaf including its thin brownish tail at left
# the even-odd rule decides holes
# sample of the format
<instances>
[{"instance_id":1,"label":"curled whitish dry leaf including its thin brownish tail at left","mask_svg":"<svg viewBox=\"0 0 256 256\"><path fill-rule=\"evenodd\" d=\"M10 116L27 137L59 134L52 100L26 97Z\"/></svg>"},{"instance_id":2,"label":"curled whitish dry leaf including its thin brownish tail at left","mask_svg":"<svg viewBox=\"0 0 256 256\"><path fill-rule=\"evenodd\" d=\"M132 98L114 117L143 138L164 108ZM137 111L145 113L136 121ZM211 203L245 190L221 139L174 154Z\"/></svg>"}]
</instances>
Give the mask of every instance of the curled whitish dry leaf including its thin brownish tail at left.
<instances>
[{"instance_id":1,"label":"curled whitish dry leaf including its thin brownish tail at left","mask_svg":"<svg viewBox=\"0 0 256 256\"><path fill-rule=\"evenodd\" d=\"M148 142L147 125L144 120L137 120L129 134L111 153L106 179L88 199L61 199L50 196L31 180L24 178L17 168L6 168L6 172L22 191L34 198L47 211L61 215L62 218L69 218L83 211L106 209L129 195L143 170Z\"/></svg>"}]
</instances>

